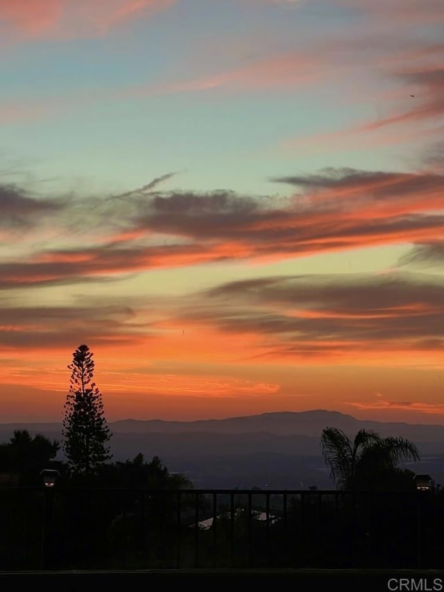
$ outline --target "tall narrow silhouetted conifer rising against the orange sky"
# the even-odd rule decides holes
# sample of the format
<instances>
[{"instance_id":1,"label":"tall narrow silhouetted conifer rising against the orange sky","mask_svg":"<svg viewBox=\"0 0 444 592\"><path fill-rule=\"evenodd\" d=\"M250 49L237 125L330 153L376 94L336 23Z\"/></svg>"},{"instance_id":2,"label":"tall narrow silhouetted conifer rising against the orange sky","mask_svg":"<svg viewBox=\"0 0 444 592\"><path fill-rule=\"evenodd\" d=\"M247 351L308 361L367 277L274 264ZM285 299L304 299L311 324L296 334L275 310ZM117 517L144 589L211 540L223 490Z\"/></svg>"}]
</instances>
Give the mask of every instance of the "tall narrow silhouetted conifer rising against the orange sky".
<instances>
[{"instance_id":1,"label":"tall narrow silhouetted conifer rising against the orange sky","mask_svg":"<svg viewBox=\"0 0 444 592\"><path fill-rule=\"evenodd\" d=\"M68 368L72 371L63 419L63 451L75 473L88 475L112 455L110 429L103 415L103 402L94 375L92 352L78 346Z\"/></svg>"}]
</instances>

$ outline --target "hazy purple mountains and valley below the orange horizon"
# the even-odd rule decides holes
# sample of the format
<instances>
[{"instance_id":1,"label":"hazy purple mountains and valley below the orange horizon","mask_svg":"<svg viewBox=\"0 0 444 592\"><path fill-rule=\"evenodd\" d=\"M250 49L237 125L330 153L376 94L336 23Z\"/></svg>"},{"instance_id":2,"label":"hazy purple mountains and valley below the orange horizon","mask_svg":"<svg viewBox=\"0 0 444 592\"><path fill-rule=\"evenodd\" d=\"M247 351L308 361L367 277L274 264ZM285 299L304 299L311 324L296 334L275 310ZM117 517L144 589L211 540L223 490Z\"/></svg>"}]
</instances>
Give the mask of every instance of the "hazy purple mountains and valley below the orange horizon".
<instances>
[{"instance_id":1,"label":"hazy purple mountains and valley below the orange horizon","mask_svg":"<svg viewBox=\"0 0 444 592\"><path fill-rule=\"evenodd\" d=\"M313 410L200 421L126 419L110 423L114 460L138 453L160 457L171 472L185 473L195 487L320 489L333 487L322 457L323 428L335 427L353 437L361 428L382 436L402 436L416 443L422 462L409 465L444 483L444 426L361 421L339 412ZM58 423L0 424L0 441L14 430L28 430L60 440Z\"/></svg>"}]
</instances>

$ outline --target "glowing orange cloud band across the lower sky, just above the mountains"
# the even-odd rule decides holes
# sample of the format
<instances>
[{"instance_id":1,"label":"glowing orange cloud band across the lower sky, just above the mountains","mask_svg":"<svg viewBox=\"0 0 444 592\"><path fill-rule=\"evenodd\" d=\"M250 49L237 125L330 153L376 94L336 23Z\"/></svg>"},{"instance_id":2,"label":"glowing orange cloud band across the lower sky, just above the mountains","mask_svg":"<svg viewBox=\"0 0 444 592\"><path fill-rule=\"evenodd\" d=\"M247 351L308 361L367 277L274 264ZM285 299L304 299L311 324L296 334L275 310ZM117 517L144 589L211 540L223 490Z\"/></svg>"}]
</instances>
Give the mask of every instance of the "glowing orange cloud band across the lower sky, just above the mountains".
<instances>
[{"instance_id":1,"label":"glowing orange cloud band across the lower sky, just above the mountains","mask_svg":"<svg viewBox=\"0 0 444 592\"><path fill-rule=\"evenodd\" d=\"M342 409L353 405L344 400L370 395L367 379L384 381L387 390L389 382L393 398L404 396L406 401L422 389L429 394L429 405L433 397L439 400L441 385L433 375L424 373L422 378L417 371L416 378L410 378L414 366L437 371L442 367L442 344L427 346L421 340L441 330L443 298L437 285L393 278L368 278L367 283L350 277L293 282L262 278L226 285L218 294L217 299L204 293L145 302L144 307L139 303L133 314L99 299L89 307L4 307L3 414L13 409L19 413L18 401L26 400L26 407L33 409L32 401L38 400L35 417L43 407L59 417L69 383L70 352L81 342L96 355L95 378L110 418L176 414L183 419L204 413L204 408L205 414L214 416L251 414L253 409L326 408L332 405L328 394L334 398L332 406ZM306 303L302 312L325 315L291 318L286 310L298 298ZM388 303L391 316L373 316L372 311L384 311ZM8 341L9 328L21 334L14 341ZM357 365L359 372L351 370L344 378L343 369ZM322 366L322 371L313 374L313 366ZM387 375L395 376L398 386L384 380ZM312 391L313 396L306 395ZM394 408L381 401L384 398L374 409L361 401L355 409L365 412L367 405L368 411L386 413ZM420 414L410 404L404 407Z\"/></svg>"}]
</instances>

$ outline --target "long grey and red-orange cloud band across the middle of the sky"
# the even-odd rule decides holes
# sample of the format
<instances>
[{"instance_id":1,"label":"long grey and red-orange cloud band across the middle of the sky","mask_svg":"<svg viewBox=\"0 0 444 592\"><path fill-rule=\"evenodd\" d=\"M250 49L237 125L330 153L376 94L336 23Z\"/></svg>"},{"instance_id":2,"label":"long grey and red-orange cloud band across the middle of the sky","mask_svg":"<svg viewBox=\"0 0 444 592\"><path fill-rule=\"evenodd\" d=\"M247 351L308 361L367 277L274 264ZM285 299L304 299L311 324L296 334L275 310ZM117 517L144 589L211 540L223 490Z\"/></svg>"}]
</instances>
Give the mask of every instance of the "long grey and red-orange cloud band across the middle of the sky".
<instances>
[{"instance_id":1,"label":"long grey and red-orange cloud band across the middle of the sky","mask_svg":"<svg viewBox=\"0 0 444 592\"><path fill-rule=\"evenodd\" d=\"M439 174L325 169L274 179L293 188L287 198L156 189L170 177L121 198L35 202L19 189L11 195L3 189L3 201L9 203L8 196L10 216L17 219L22 210L26 215L30 209L51 209L51 215L55 210L60 246L42 243L42 233L34 245L33 235L27 237L26 260L10 254L0 262L1 286L78 282L217 261L284 260L365 246L430 245L444 228Z\"/></svg>"}]
</instances>

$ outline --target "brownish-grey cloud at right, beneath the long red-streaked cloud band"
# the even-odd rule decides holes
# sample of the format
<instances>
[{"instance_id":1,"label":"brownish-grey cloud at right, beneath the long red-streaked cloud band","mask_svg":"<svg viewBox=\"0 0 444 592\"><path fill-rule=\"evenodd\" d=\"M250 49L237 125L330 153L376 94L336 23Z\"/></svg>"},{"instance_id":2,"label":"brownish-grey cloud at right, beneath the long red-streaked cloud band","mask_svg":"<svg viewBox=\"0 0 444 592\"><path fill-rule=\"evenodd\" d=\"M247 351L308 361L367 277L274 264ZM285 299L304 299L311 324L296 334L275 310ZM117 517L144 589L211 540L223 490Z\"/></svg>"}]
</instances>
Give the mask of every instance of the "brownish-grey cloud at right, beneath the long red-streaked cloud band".
<instances>
[{"instance_id":1,"label":"brownish-grey cloud at right, beneath the long red-streaked cloud band","mask_svg":"<svg viewBox=\"0 0 444 592\"><path fill-rule=\"evenodd\" d=\"M444 345L443 296L442 278L422 274L282 276L210 289L178 314L184 323L262 336L264 358L345 363L384 353L391 364L433 364Z\"/></svg>"}]
</instances>

